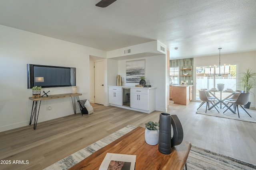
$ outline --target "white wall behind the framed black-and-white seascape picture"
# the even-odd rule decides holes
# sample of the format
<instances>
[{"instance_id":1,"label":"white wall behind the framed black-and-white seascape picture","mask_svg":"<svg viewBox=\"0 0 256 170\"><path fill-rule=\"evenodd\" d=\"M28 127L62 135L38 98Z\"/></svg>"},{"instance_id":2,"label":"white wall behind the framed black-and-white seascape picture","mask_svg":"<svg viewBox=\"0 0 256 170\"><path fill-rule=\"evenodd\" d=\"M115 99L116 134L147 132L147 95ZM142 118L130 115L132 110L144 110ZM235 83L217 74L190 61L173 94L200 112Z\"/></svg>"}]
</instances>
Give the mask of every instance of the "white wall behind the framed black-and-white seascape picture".
<instances>
[{"instance_id":1,"label":"white wall behind the framed black-and-white seascape picture","mask_svg":"<svg viewBox=\"0 0 256 170\"><path fill-rule=\"evenodd\" d=\"M126 83L126 61L145 59L145 80L156 88L156 110L166 112L166 55L156 55L138 59L118 61L118 74L124 79L124 86L135 86L139 83Z\"/></svg>"}]
</instances>

